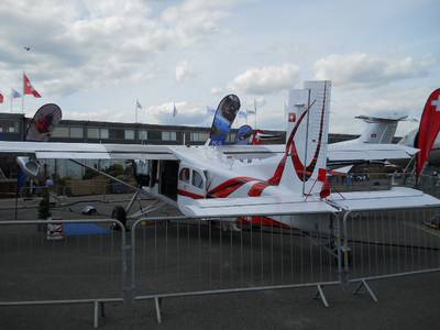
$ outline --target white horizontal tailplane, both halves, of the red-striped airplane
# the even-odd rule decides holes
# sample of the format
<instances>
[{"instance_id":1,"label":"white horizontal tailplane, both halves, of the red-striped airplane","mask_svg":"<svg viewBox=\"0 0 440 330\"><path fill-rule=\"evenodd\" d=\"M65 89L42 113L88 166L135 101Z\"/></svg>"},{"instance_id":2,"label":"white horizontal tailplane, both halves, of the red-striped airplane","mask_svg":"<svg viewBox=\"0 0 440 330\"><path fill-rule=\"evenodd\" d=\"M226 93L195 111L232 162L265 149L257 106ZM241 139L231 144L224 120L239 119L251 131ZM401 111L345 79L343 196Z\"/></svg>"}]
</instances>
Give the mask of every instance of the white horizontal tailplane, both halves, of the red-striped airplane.
<instances>
[{"instance_id":1,"label":"white horizontal tailplane, both halves, of the red-striped airplane","mask_svg":"<svg viewBox=\"0 0 440 330\"><path fill-rule=\"evenodd\" d=\"M243 197L195 199L184 208L189 217L241 217L338 213L340 210L369 211L439 207L440 201L422 191L395 187L391 190L332 194L328 199L302 197Z\"/></svg>"}]
</instances>

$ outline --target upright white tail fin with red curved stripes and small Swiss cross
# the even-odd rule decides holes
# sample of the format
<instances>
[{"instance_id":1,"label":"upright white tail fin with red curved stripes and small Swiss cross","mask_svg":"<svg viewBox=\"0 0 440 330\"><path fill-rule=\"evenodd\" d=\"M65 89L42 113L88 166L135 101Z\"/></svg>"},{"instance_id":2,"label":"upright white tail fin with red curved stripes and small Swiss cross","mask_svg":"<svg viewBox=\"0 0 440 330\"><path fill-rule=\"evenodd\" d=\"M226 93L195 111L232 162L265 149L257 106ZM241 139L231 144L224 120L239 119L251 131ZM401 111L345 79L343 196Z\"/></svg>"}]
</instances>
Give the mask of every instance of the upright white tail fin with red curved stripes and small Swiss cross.
<instances>
[{"instance_id":1,"label":"upright white tail fin with red curved stripes and small Swiss cross","mask_svg":"<svg viewBox=\"0 0 440 330\"><path fill-rule=\"evenodd\" d=\"M301 195L321 191L327 164L331 81L306 81L289 92L285 155L274 177Z\"/></svg>"}]
</instances>

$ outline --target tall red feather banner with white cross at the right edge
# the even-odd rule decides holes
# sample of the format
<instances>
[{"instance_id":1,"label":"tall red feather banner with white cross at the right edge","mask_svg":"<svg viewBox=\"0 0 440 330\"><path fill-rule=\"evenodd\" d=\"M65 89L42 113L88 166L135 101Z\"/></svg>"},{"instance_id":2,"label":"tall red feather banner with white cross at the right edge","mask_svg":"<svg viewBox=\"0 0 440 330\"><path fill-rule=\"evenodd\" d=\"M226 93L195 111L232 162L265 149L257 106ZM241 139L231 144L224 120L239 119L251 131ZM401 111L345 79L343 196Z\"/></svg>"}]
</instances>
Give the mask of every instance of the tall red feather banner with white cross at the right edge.
<instances>
[{"instance_id":1,"label":"tall red feather banner with white cross at the right edge","mask_svg":"<svg viewBox=\"0 0 440 330\"><path fill-rule=\"evenodd\" d=\"M418 143L416 147L420 151L417 155L416 172L418 175L424 170L428 161L433 142L440 131L440 88L436 89L429 96L424 113L421 114Z\"/></svg>"}]
</instances>

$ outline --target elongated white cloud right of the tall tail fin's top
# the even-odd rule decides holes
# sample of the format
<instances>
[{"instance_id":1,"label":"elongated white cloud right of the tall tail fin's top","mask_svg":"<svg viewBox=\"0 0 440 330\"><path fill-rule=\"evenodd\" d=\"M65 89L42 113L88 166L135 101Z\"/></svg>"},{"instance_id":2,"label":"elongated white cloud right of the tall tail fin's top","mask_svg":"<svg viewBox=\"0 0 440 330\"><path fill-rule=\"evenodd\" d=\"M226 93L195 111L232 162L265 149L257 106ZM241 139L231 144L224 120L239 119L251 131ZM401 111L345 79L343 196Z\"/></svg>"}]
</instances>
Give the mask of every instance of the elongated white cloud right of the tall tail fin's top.
<instances>
[{"instance_id":1,"label":"elongated white cloud right of the tall tail fin's top","mask_svg":"<svg viewBox=\"0 0 440 330\"><path fill-rule=\"evenodd\" d=\"M334 86L376 87L402 79L425 77L432 58L389 59L365 53L332 54L315 63L315 78L330 79Z\"/></svg>"}]
</instances>

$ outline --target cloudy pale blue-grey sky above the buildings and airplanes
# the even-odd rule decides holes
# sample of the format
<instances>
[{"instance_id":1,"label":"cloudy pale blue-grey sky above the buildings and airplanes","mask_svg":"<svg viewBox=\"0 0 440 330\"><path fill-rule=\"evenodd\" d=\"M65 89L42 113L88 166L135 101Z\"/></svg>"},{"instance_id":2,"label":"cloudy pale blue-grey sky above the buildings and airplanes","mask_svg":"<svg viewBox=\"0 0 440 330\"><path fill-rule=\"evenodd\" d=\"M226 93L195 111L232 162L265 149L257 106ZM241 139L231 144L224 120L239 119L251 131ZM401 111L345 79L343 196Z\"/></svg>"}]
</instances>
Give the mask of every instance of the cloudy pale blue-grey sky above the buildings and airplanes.
<instances>
[{"instance_id":1,"label":"cloudy pale blue-grey sky above the buildings and airplanes","mask_svg":"<svg viewBox=\"0 0 440 330\"><path fill-rule=\"evenodd\" d=\"M359 114L419 119L440 87L438 1L2 0L0 22L2 112L24 70L43 96L28 116L55 102L65 119L133 122L138 98L141 122L208 125L206 106L234 92L284 129L288 88L331 79L330 131L356 133Z\"/></svg>"}]
</instances>

